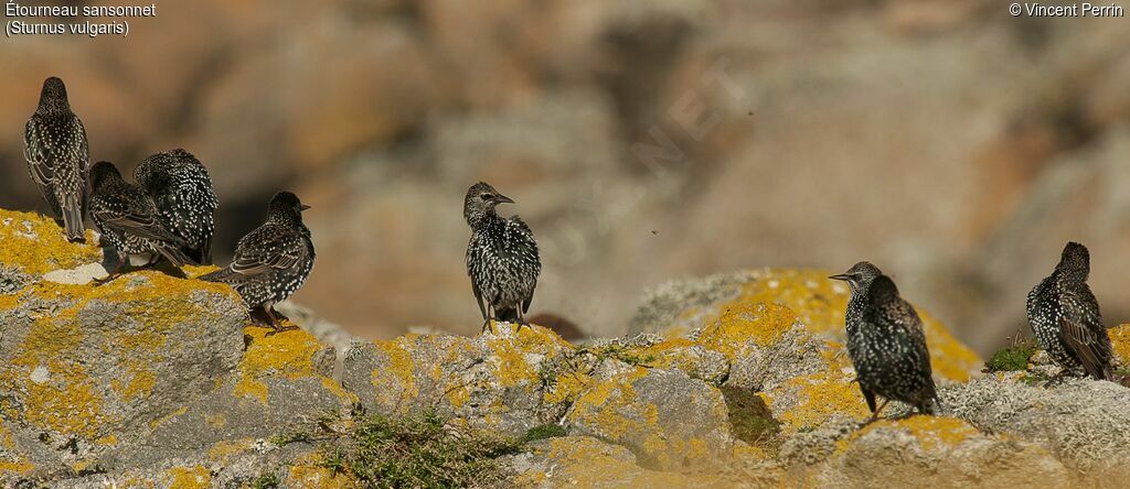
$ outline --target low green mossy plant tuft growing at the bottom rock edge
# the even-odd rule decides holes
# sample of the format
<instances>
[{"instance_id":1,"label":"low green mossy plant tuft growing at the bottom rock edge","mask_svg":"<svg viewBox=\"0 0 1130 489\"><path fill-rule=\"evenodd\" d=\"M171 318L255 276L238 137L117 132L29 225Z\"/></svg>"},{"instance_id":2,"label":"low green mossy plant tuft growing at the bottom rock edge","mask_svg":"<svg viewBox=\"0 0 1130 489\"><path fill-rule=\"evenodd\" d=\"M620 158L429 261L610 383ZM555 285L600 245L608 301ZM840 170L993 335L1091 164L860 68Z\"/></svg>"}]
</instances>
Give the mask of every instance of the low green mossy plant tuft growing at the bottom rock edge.
<instances>
[{"instance_id":1,"label":"low green mossy plant tuft growing at the bottom rock edge","mask_svg":"<svg viewBox=\"0 0 1130 489\"><path fill-rule=\"evenodd\" d=\"M498 457L519 450L489 433L453 430L432 412L366 416L331 435L320 465L375 488L503 486L511 473Z\"/></svg>"}]
</instances>

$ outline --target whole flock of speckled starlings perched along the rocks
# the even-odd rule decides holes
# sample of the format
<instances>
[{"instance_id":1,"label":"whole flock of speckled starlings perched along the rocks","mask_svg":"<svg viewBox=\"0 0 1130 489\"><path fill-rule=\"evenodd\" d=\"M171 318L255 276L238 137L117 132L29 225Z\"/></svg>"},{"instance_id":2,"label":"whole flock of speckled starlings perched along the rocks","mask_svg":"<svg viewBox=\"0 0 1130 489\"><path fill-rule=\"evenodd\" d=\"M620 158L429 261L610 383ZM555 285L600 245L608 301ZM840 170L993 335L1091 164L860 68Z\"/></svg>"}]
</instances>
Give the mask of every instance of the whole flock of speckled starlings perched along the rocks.
<instances>
[{"instance_id":1,"label":"whole flock of speckled starlings perched along the rocks","mask_svg":"<svg viewBox=\"0 0 1130 489\"><path fill-rule=\"evenodd\" d=\"M210 265L215 215L219 207L208 170L177 149L146 158L127 181L113 163L89 165L86 130L70 108L59 78L43 82L40 105L27 122L26 158L56 221L71 241L84 240L89 212L118 266L102 283L127 267L167 260L174 266ZM502 217L495 207L513 203L479 183L467 192L463 216L471 228L467 273L486 330L494 320L525 324L541 261L533 233L518 216ZM270 326L280 322L273 305L306 281L314 266L314 243L303 223L308 208L289 192L276 194L267 220L244 235L232 264L200 277L229 284L252 310L262 309ZM1068 243L1055 270L1027 297L1028 320L1036 341L1063 374L1080 371L1112 380L1111 340L1087 286L1087 248ZM903 300L890 277L861 261L833 275L851 288L845 311L847 353L868 407L876 419L889 400L919 412L939 407L922 321ZM884 403L876 406L876 397Z\"/></svg>"}]
</instances>

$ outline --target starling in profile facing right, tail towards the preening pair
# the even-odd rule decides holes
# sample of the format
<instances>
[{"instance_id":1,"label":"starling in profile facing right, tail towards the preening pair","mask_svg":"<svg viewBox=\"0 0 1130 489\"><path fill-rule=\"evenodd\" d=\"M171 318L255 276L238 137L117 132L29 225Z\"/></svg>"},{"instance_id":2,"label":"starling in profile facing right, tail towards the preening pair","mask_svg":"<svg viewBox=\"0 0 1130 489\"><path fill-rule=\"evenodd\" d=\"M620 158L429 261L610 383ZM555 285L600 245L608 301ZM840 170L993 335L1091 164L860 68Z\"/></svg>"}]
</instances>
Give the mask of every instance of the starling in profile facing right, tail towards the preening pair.
<instances>
[{"instance_id":1,"label":"starling in profile facing right, tail towards the preening pair","mask_svg":"<svg viewBox=\"0 0 1130 489\"><path fill-rule=\"evenodd\" d=\"M302 221L307 208L293 193L275 194L267 221L240 239L232 264L200 277L231 285L250 309L267 313L276 332L284 328L275 304L302 287L314 268L314 241Z\"/></svg>"}]
</instances>

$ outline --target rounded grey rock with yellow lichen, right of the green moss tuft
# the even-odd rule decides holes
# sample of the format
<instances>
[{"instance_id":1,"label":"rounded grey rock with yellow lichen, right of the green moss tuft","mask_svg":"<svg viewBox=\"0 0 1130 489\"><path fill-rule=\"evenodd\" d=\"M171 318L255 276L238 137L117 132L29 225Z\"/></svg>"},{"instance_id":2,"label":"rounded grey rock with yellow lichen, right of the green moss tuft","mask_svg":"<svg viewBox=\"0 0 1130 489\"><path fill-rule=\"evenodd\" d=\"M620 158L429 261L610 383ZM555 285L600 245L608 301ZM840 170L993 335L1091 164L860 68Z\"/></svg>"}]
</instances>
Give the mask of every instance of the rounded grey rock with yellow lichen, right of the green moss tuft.
<instances>
[{"instance_id":1,"label":"rounded grey rock with yellow lichen, right of the green moss tuft","mask_svg":"<svg viewBox=\"0 0 1130 489\"><path fill-rule=\"evenodd\" d=\"M617 374L582 394L566 419L574 432L627 446L660 470L712 465L733 445L722 393L678 371Z\"/></svg>"}]
</instances>

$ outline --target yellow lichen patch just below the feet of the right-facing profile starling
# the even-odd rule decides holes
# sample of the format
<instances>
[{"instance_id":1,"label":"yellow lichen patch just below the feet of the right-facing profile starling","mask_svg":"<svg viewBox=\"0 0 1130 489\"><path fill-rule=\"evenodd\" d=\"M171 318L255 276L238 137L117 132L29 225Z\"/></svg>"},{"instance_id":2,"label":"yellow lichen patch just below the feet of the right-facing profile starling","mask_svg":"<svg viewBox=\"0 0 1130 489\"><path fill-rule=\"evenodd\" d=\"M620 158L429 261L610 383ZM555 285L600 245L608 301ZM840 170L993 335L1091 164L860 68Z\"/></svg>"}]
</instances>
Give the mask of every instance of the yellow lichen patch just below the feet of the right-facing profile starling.
<instances>
[{"instance_id":1,"label":"yellow lichen patch just below the feet of the right-facing profile starling","mask_svg":"<svg viewBox=\"0 0 1130 489\"><path fill-rule=\"evenodd\" d=\"M240 361L235 395L257 399L266 406L268 389L262 379L294 380L315 375L313 357L322 346L308 332L294 328L272 334L270 329L251 326L244 328L243 334L251 337L251 345Z\"/></svg>"}]
</instances>

